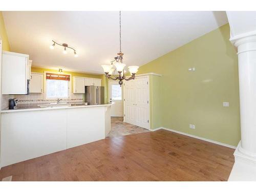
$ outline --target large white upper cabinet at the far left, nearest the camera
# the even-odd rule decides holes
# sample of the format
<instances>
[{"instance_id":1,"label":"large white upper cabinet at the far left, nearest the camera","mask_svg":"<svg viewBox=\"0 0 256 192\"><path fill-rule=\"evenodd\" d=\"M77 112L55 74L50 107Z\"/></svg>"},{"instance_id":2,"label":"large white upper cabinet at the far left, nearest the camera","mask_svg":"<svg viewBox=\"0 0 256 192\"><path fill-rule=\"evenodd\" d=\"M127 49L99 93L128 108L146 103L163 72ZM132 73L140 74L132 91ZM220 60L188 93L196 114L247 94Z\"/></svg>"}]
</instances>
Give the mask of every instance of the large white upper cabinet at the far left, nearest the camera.
<instances>
[{"instance_id":1,"label":"large white upper cabinet at the far left, nearest the camera","mask_svg":"<svg viewBox=\"0 0 256 192\"><path fill-rule=\"evenodd\" d=\"M28 94L31 64L29 55L2 52L2 94Z\"/></svg>"}]
</instances>

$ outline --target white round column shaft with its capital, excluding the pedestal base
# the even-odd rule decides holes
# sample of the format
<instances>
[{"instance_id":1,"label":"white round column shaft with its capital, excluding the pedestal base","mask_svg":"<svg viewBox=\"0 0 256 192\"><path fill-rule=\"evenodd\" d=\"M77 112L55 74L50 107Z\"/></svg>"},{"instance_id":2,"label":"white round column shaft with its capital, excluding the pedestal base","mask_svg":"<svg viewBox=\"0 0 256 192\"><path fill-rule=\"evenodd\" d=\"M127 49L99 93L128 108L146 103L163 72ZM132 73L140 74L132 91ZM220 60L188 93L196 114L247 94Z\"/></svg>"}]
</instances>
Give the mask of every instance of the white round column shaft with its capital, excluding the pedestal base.
<instances>
[{"instance_id":1,"label":"white round column shaft with its capital, excluding the pedestal base","mask_svg":"<svg viewBox=\"0 0 256 192\"><path fill-rule=\"evenodd\" d=\"M241 116L239 151L256 158L256 35L237 40Z\"/></svg>"}]
</instances>

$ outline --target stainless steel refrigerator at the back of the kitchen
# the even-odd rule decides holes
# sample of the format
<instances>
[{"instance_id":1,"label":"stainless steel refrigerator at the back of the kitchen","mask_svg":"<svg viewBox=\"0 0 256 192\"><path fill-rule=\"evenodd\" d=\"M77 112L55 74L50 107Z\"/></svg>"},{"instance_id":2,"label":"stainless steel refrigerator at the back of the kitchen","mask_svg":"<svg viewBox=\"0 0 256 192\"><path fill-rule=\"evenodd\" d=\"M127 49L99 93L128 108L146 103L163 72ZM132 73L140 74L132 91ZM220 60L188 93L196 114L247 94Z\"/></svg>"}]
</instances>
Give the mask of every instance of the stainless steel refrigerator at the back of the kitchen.
<instances>
[{"instance_id":1,"label":"stainless steel refrigerator at the back of the kitchen","mask_svg":"<svg viewBox=\"0 0 256 192\"><path fill-rule=\"evenodd\" d=\"M86 86L84 94L84 102L88 104L104 104L104 87L102 86Z\"/></svg>"}]
</instances>

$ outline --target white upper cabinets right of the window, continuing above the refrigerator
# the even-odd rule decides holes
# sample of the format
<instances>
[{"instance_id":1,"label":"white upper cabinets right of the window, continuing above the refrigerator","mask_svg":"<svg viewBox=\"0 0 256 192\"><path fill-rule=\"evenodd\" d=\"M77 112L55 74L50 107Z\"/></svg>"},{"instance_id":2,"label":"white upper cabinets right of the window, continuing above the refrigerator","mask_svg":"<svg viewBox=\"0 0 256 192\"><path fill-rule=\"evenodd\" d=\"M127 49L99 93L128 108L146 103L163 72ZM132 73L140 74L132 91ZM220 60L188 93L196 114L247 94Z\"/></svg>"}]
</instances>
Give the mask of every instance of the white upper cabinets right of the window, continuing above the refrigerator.
<instances>
[{"instance_id":1,"label":"white upper cabinets right of the window, continuing above the refrigerator","mask_svg":"<svg viewBox=\"0 0 256 192\"><path fill-rule=\"evenodd\" d=\"M73 93L85 93L84 86L101 86L101 79L73 77Z\"/></svg>"}]
</instances>

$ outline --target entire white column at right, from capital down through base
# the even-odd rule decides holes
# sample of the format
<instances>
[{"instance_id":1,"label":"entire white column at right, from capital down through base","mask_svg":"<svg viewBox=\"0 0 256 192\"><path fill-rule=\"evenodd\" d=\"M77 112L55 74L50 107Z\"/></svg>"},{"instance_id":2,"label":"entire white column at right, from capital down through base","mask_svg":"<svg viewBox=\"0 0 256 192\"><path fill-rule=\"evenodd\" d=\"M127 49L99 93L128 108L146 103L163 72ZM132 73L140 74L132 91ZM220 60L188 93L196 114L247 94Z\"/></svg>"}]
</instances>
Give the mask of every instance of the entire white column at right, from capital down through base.
<instances>
[{"instance_id":1,"label":"entire white column at right, from capital down through base","mask_svg":"<svg viewBox=\"0 0 256 192\"><path fill-rule=\"evenodd\" d=\"M229 181L256 181L256 35L234 40L238 48L241 141Z\"/></svg>"}]
</instances>

